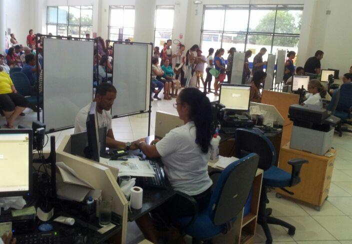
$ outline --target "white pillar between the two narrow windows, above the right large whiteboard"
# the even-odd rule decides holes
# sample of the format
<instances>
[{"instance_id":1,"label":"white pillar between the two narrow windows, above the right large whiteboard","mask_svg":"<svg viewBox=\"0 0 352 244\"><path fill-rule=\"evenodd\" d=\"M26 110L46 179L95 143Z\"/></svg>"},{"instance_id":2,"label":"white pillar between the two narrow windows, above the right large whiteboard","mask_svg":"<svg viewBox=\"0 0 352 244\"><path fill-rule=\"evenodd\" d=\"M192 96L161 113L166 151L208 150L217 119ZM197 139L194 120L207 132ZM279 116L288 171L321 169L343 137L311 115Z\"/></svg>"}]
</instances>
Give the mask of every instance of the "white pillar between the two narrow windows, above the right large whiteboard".
<instances>
[{"instance_id":1,"label":"white pillar between the two narrow windows, above the right large whiteboard","mask_svg":"<svg viewBox=\"0 0 352 244\"><path fill-rule=\"evenodd\" d=\"M133 41L154 42L156 0L135 0Z\"/></svg>"}]
</instances>

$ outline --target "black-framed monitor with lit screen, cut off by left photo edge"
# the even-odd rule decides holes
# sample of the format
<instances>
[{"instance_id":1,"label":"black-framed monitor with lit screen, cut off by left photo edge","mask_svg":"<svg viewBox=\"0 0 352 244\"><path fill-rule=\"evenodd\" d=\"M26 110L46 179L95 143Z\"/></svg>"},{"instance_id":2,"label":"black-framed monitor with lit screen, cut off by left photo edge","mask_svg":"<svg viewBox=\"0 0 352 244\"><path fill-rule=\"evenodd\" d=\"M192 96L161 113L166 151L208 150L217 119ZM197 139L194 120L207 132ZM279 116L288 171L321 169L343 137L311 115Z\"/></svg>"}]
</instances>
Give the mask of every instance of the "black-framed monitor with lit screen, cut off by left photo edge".
<instances>
[{"instance_id":1,"label":"black-framed monitor with lit screen, cut off by left photo edge","mask_svg":"<svg viewBox=\"0 0 352 244\"><path fill-rule=\"evenodd\" d=\"M32 190L32 130L0 129L0 197Z\"/></svg>"}]
</instances>

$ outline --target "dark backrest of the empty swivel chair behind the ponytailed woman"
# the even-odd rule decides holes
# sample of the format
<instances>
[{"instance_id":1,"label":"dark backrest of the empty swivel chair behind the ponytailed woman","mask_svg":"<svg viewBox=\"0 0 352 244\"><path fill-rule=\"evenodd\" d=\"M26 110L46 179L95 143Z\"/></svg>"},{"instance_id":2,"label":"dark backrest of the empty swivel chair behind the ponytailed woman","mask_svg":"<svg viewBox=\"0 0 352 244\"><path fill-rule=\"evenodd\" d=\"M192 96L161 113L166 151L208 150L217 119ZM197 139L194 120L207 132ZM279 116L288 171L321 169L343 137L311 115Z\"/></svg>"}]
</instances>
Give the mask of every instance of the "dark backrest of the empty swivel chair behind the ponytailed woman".
<instances>
[{"instance_id":1,"label":"dark backrest of the empty swivel chair behind the ponytailed woman","mask_svg":"<svg viewBox=\"0 0 352 244\"><path fill-rule=\"evenodd\" d=\"M271 141L249 129L237 129L235 134L236 156L243 157L251 152L259 155L258 167L266 170L276 161L276 150Z\"/></svg>"}]
</instances>

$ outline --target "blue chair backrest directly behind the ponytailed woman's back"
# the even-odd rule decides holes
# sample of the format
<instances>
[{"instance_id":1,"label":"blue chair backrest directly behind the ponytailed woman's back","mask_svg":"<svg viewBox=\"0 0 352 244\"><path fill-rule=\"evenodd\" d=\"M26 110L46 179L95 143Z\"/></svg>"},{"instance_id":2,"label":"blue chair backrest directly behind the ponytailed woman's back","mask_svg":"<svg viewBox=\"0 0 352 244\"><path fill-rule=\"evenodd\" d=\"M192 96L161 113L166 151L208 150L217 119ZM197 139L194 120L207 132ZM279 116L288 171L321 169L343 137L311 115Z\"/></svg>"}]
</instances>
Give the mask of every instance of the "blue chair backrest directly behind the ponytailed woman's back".
<instances>
[{"instance_id":1,"label":"blue chair backrest directly behind the ponytailed woman's back","mask_svg":"<svg viewBox=\"0 0 352 244\"><path fill-rule=\"evenodd\" d=\"M208 213L215 225L231 221L243 208L252 187L259 156L255 153L230 163L213 189Z\"/></svg>"}]
</instances>

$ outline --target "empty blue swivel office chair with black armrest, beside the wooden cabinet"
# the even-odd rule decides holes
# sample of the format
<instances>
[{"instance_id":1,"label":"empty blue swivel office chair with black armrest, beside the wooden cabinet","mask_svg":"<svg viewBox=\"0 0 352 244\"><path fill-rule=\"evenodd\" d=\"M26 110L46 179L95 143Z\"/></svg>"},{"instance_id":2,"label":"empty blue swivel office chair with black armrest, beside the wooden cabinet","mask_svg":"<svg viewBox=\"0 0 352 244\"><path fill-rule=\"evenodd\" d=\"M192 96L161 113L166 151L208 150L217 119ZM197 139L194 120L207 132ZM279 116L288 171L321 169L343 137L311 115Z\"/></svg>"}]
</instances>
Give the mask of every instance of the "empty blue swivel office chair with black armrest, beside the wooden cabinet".
<instances>
[{"instance_id":1,"label":"empty blue swivel office chair with black armrest, beside the wooden cabinet","mask_svg":"<svg viewBox=\"0 0 352 244\"><path fill-rule=\"evenodd\" d=\"M276 151L271 141L266 136L248 129L236 130L235 150L237 157L252 152L258 154L258 167L264 170L257 223L263 228L266 236L265 243L272 243L272 236L268 224L278 224L286 227L288 228L288 234L293 235L295 232L295 227L293 225L270 216L272 209L266 208L266 203L269 202L266 196L266 189L268 187L280 187L289 194L293 194L293 192L290 192L283 187L290 187L300 182L300 168L303 163L307 163L308 161L299 158L289 160L288 164L292 165L291 173L273 166L276 160Z\"/></svg>"}]
</instances>

